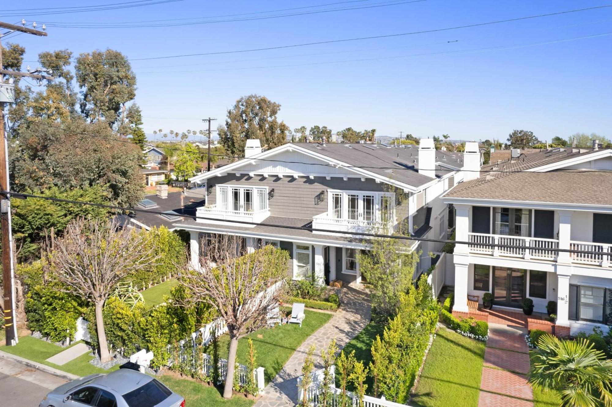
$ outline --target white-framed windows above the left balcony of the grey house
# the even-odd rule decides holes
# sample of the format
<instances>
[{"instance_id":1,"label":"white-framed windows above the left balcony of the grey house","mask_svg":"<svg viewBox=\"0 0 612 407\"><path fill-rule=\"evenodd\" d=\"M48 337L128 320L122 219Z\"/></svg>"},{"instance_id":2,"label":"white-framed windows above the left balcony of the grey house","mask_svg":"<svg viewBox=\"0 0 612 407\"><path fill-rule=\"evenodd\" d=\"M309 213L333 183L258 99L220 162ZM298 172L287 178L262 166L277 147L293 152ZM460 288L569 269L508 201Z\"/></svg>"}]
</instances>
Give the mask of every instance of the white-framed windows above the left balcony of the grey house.
<instances>
[{"instance_id":1,"label":"white-framed windows above the left balcony of the grey house","mask_svg":"<svg viewBox=\"0 0 612 407\"><path fill-rule=\"evenodd\" d=\"M267 187L217 185L217 209L234 212L267 210Z\"/></svg>"}]
</instances>

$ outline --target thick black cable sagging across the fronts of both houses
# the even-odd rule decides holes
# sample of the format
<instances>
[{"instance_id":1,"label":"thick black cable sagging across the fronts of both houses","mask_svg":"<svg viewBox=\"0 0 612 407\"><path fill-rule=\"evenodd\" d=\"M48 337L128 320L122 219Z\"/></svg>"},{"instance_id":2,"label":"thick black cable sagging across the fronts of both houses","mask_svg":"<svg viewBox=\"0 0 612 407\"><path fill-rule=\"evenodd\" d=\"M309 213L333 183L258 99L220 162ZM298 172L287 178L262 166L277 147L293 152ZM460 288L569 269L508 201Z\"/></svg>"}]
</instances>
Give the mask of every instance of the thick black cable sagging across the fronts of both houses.
<instances>
[{"instance_id":1,"label":"thick black cable sagging across the fronts of both houses","mask_svg":"<svg viewBox=\"0 0 612 407\"><path fill-rule=\"evenodd\" d=\"M35 194L29 194L29 193L20 193L20 192L15 192L15 191L0 191L0 193L9 194L9 197L14 196L15 198L24 197L24 198L46 199L46 200L51 200L54 202L63 202L65 204L88 205L88 206L93 206L93 207L121 210L121 211L127 211L127 212L152 213L154 215L162 215L162 216L168 215L168 213L164 213L163 211L154 211L154 210L140 209L140 208L126 208L126 207L119 207L116 205L98 204L96 202L87 202L87 201L81 201L81 200L61 199L61 198L41 196L41 195L35 195ZM184 213L178 213L176 211L172 213L172 216L177 216L180 218L190 218L190 219L194 219L195 221L197 221L198 219L202 219L205 221L218 221L218 219L214 219L214 218L206 218L205 216L197 216L197 214L195 216L186 215ZM470 242L470 241L420 238L420 237L411 237L411 236L403 236L403 235L386 235L384 233L341 232L338 230L318 229L318 228L307 227L307 226L289 226L289 225L270 224L270 223L261 224L257 222L236 221L236 220L229 220L229 219L225 219L223 222L228 222L228 223L233 223L233 224L238 224L238 225L245 225L245 226L267 226L267 227L279 227L282 229L291 229L291 230L308 230L310 232L335 233L338 235L349 235L351 237L360 236L360 237L368 237L368 238L390 238L390 239L395 239L395 240L429 241L429 242L435 242L435 243L452 243L452 244L468 244L468 245L475 244L474 242ZM216 225L216 226L220 226L220 225ZM220 231L219 233L223 234L223 232L227 233L227 232L245 232L245 231L244 230L231 230L231 231ZM598 256L612 255L612 252L604 252L604 251L588 251L588 250L561 249L561 248L542 249L541 247L536 247L536 246L520 246L520 245L514 245L514 244L500 244L500 243L480 243L478 242L477 244L479 246L487 246L490 248L529 249L529 250L548 251L548 252L592 254L592 255L598 255Z\"/></svg>"}]
</instances>

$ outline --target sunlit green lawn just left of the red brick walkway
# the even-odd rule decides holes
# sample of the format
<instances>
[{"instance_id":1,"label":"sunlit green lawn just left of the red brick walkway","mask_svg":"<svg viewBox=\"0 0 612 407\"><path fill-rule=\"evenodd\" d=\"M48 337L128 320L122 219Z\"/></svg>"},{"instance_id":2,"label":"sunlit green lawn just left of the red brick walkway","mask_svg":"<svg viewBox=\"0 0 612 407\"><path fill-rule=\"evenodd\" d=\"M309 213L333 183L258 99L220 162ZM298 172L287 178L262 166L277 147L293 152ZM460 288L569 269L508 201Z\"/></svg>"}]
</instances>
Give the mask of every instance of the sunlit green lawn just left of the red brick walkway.
<instances>
[{"instance_id":1,"label":"sunlit green lawn just left of the red brick walkway","mask_svg":"<svg viewBox=\"0 0 612 407\"><path fill-rule=\"evenodd\" d=\"M485 343L438 329L411 405L477 406Z\"/></svg>"}]
</instances>

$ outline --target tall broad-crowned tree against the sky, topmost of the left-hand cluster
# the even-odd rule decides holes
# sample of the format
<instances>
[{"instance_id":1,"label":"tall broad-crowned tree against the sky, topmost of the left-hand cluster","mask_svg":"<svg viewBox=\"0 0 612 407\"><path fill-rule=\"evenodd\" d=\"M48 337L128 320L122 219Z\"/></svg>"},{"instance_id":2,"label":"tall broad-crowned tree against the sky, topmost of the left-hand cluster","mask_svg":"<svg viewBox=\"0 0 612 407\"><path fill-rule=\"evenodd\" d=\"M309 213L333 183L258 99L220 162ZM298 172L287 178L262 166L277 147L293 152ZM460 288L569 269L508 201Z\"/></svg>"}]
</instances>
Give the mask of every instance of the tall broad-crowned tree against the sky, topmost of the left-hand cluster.
<instances>
[{"instance_id":1,"label":"tall broad-crowned tree against the sky, topmost of the left-hand cluster","mask_svg":"<svg viewBox=\"0 0 612 407\"><path fill-rule=\"evenodd\" d=\"M105 120L110 126L122 122L126 103L136 96L136 75L127 57L110 49L82 53L76 58L75 72L83 88L81 112L91 121Z\"/></svg>"}]
</instances>

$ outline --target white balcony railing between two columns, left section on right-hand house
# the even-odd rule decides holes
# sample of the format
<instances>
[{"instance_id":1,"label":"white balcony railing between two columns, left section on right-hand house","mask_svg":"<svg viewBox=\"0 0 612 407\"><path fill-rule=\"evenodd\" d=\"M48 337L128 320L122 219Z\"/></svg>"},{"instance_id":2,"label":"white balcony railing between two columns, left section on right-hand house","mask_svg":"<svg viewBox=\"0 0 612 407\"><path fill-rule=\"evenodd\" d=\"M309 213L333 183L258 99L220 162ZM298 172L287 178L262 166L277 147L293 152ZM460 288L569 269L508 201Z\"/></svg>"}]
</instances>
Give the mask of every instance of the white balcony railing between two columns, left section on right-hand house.
<instances>
[{"instance_id":1,"label":"white balcony railing between two columns, left section on right-hand house","mask_svg":"<svg viewBox=\"0 0 612 407\"><path fill-rule=\"evenodd\" d=\"M551 249L559 247L559 241L554 239L489 235L487 233L468 233L468 241L468 249L471 253L523 259L554 260L557 252ZM489 244L500 246L489 246ZM530 247L534 249L529 249Z\"/></svg>"}]
</instances>

